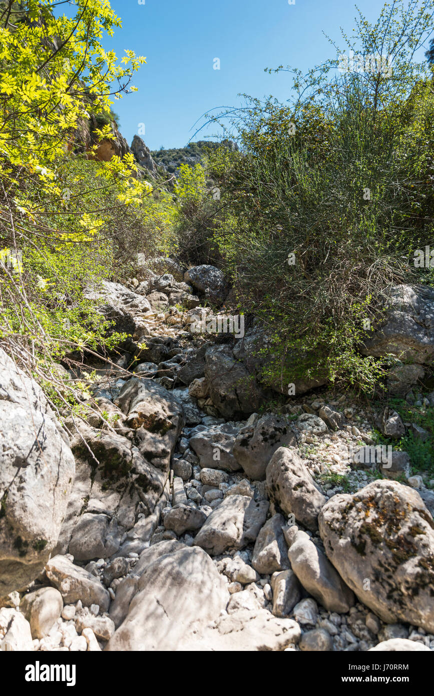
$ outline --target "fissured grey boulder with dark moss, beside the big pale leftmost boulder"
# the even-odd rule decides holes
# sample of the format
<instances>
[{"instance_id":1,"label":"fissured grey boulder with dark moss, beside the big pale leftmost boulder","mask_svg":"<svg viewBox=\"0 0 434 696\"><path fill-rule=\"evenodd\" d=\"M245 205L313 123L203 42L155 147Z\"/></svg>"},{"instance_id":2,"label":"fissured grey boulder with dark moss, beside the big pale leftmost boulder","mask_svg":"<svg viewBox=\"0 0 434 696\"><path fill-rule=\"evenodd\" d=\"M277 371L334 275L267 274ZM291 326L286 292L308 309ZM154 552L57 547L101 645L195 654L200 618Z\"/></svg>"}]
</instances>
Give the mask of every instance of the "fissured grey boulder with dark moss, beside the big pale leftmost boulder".
<instances>
[{"instance_id":1,"label":"fissured grey boulder with dark moss, beside the big pale leftmost boulder","mask_svg":"<svg viewBox=\"0 0 434 696\"><path fill-rule=\"evenodd\" d=\"M71 447L77 473L56 552L105 558L118 551L138 512L152 514L168 470L154 466L129 438L83 424Z\"/></svg>"}]
</instances>

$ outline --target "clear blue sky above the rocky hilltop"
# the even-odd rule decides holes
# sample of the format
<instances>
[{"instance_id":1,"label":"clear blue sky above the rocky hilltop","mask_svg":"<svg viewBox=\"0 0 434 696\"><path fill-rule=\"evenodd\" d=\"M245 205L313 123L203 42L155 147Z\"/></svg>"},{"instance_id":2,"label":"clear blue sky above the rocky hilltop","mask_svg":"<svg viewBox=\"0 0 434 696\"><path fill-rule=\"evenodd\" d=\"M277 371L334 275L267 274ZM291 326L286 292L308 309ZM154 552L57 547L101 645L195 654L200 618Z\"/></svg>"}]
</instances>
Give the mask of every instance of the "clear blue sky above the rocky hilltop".
<instances>
[{"instance_id":1,"label":"clear blue sky above the rocky hilltop","mask_svg":"<svg viewBox=\"0 0 434 696\"><path fill-rule=\"evenodd\" d=\"M216 106L241 104L237 95L289 97L289 74L264 68L292 65L306 71L334 56L323 32L339 42L339 26L351 33L352 0L111 0L122 29L104 47L146 56L136 74L138 92L115 102L122 134L131 143L139 124L151 148L184 147L193 124ZM383 0L364 0L374 21ZM220 58L220 70L213 69ZM194 140L214 133L215 126Z\"/></svg>"}]
</instances>

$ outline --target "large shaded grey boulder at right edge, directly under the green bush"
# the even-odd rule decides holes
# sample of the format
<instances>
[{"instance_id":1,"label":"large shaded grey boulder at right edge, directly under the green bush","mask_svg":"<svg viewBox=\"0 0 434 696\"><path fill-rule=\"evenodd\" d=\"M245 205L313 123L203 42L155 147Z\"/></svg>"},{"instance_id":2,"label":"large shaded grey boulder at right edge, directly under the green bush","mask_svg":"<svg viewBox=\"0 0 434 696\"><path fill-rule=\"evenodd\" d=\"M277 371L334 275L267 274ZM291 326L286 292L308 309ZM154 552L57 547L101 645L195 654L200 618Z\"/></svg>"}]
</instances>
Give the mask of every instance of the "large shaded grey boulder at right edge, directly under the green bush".
<instances>
[{"instance_id":1,"label":"large shaded grey boulder at right edge, directly under the green bush","mask_svg":"<svg viewBox=\"0 0 434 696\"><path fill-rule=\"evenodd\" d=\"M384 298L385 321L367 335L364 355L393 354L400 361L431 363L434 355L434 290L426 285L396 285Z\"/></svg>"}]
</instances>

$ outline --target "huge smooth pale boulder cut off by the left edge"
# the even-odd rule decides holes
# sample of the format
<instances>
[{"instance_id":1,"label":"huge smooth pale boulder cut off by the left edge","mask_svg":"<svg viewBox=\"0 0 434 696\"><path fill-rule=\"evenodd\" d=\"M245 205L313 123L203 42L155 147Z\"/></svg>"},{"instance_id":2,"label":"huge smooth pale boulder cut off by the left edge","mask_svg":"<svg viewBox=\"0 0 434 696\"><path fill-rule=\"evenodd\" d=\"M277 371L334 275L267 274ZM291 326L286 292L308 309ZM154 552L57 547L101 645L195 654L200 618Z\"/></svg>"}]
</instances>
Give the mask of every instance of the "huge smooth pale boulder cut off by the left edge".
<instances>
[{"instance_id":1,"label":"huge smooth pale boulder cut off by the left edge","mask_svg":"<svg viewBox=\"0 0 434 696\"><path fill-rule=\"evenodd\" d=\"M0 349L0 596L35 580L74 480L67 435L42 390Z\"/></svg>"}]
</instances>

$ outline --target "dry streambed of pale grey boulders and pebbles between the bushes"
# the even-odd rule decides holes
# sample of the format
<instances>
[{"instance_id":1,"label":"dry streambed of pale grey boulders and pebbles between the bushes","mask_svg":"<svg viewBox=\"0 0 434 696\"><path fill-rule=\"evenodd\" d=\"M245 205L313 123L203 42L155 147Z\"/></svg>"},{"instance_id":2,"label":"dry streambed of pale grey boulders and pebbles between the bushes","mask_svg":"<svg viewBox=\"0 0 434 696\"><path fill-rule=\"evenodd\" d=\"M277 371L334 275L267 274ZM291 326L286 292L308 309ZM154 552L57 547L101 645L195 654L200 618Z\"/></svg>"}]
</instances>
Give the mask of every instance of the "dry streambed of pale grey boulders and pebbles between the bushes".
<instances>
[{"instance_id":1,"label":"dry streambed of pale grey boulders and pebbles between the bushes","mask_svg":"<svg viewBox=\"0 0 434 696\"><path fill-rule=\"evenodd\" d=\"M357 461L373 446L372 414L346 395L322 388L273 413L255 410L255 392L246 406L249 387L234 388L243 364L191 332L220 278L175 278L106 283L105 311L135 343L113 369L89 365L92 408L65 413L69 438L3 357L15 371L6 400L33 420L43 411L52 432L17 481L17 435L25 448L31 429L8 426L0 647L434 649L430 482L409 476L400 452L385 452L381 478ZM399 431L396 414L384 418ZM41 500L65 493L35 530L14 487L31 489L41 466Z\"/></svg>"}]
</instances>

